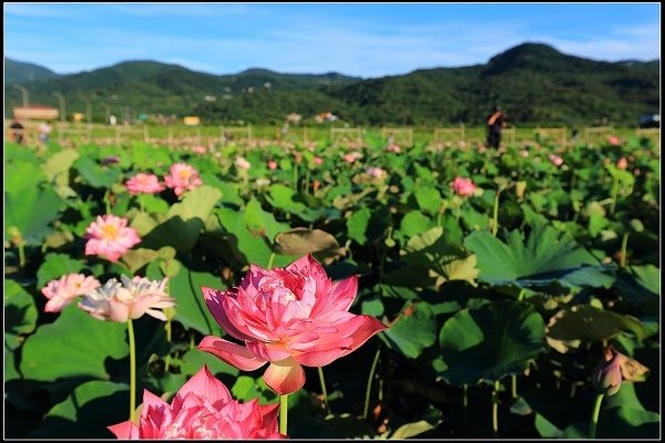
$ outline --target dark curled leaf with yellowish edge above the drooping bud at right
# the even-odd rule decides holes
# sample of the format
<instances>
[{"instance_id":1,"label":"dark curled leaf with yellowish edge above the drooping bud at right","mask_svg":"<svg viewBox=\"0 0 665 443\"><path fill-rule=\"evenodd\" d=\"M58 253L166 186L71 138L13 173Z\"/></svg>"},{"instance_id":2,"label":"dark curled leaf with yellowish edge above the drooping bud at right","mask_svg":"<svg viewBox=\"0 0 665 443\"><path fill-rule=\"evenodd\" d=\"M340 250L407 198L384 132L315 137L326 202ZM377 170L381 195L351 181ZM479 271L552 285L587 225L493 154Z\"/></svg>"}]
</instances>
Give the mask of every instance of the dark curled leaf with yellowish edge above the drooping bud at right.
<instances>
[{"instance_id":1,"label":"dark curled leaf with yellowish edge above the drooping bud at right","mask_svg":"<svg viewBox=\"0 0 665 443\"><path fill-rule=\"evenodd\" d=\"M592 306L574 306L552 316L545 333L552 348L566 353L580 348L582 342L607 341L624 330L633 332L638 340L647 334L647 330L634 317Z\"/></svg>"}]
</instances>

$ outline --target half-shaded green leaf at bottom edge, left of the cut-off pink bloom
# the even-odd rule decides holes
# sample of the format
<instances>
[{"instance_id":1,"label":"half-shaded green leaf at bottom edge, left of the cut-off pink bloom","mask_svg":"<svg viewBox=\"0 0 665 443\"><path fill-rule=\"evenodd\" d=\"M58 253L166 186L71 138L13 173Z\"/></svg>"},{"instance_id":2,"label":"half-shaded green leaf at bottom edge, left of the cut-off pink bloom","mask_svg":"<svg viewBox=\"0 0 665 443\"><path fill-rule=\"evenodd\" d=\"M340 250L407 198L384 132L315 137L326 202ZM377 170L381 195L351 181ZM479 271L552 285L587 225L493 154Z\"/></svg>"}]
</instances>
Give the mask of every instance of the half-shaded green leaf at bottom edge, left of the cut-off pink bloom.
<instances>
[{"instance_id":1,"label":"half-shaded green leaf at bottom edge, left of the cut-off pink bloom","mask_svg":"<svg viewBox=\"0 0 665 443\"><path fill-rule=\"evenodd\" d=\"M33 439L112 439L106 429L129 420L130 388L123 383L89 381L54 405L44 416ZM141 403L139 398L137 403Z\"/></svg>"}]
</instances>

